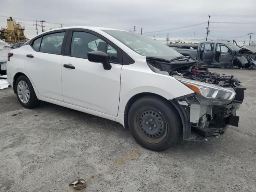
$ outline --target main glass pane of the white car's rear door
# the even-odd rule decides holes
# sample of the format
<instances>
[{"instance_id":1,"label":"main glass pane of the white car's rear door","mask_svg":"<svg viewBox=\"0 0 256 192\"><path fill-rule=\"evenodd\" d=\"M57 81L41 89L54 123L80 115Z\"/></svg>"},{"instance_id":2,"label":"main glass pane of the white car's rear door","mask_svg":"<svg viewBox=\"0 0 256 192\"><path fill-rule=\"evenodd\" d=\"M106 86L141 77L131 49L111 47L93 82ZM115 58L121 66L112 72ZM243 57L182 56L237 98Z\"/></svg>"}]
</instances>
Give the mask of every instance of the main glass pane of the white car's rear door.
<instances>
[{"instance_id":1,"label":"main glass pane of the white car's rear door","mask_svg":"<svg viewBox=\"0 0 256 192\"><path fill-rule=\"evenodd\" d=\"M60 54L65 32L43 36L40 52Z\"/></svg>"}]
</instances>

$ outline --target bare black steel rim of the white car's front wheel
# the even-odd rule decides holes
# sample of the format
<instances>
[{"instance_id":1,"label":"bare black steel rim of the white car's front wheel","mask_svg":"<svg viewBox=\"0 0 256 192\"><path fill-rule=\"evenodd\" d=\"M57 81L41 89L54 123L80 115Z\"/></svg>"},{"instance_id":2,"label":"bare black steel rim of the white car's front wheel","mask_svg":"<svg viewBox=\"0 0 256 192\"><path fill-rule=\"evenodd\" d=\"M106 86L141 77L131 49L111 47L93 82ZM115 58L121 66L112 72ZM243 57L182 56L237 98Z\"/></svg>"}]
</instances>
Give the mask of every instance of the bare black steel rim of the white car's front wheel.
<instances>
[{"instance_id":1,"label":"bare black steel rim of the white car's front wheel","mask_svg":"<svg viewBox=\"0 0 256 192\"><path fill-rule=\"evenodd\" d=\"M156 144L167 134L167 122L163 114L152 107L144 107L136 113L136 132L144 141Z\"/></svg>"}]
</instances>

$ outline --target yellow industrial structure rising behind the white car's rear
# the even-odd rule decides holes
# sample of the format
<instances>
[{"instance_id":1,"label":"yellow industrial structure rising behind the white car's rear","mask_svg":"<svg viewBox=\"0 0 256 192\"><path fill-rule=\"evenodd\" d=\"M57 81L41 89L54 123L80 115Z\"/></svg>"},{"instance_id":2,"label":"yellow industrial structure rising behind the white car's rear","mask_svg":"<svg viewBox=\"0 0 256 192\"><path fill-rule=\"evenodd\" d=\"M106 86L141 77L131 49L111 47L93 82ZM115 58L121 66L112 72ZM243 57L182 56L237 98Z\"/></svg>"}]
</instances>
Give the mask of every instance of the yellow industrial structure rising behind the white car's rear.
<instances>
[{"instance_id":1,"label":"yellow industrial structure rising behind the white car's rear","mask_svg":"<svg viewBox=\"0 0 256 192\"><path fill-rule=\"evenodd\" d=\"M0 39L9 43L17 43L27 41L28 38L24 35L25 28L21 26L21 23L16 21L10 17L7 19L7 28L1 28Z\"/></svg>"}]
</instances>

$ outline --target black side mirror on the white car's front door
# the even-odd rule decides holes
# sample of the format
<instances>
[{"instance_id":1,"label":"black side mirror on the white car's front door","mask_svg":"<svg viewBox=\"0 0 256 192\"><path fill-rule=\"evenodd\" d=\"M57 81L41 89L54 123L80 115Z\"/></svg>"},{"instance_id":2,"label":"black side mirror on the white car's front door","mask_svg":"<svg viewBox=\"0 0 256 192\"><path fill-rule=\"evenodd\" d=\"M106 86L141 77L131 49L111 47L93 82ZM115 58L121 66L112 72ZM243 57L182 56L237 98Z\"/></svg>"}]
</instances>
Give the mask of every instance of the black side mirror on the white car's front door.
<instances>
[{"instance_id":1,"label":"black side mirror on the white car's front door","mask_svg":"<svg viewBox=\"0 0 256 192\"><path fill-rule=\"evenodd\" d=\"M102 63L103 68L110 70L112 68L109 63L109 55L103 51L91 51L87 54L88 60L91 62Z\"/></svg>"}]
</instances>

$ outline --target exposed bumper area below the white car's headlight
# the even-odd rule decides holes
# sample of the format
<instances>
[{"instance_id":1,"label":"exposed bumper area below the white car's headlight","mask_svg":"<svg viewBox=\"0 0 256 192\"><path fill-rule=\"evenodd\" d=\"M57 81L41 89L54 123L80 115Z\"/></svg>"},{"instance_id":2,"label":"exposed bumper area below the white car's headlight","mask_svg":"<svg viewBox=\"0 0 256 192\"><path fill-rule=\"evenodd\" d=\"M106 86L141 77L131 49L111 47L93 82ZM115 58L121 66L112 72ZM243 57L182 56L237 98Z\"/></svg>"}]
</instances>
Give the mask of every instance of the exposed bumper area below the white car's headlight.
<instances>
[{"instance_id":1,"label":"exposed bumper area below the white car's headlight","mask_svg":"<svg viewBox=\"0 0 256 192\"><path fill-rule=\"evenodd\" d=\"M239 116L236 112L244 99L244 90L242 86L234 88L235 96L228 104L202 103L202 96L196 92L176 98L184 116L184 140L208 140L209 137L224 134L228 125L238 127Z\"/></svg>"}]
</instances>

